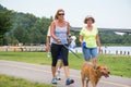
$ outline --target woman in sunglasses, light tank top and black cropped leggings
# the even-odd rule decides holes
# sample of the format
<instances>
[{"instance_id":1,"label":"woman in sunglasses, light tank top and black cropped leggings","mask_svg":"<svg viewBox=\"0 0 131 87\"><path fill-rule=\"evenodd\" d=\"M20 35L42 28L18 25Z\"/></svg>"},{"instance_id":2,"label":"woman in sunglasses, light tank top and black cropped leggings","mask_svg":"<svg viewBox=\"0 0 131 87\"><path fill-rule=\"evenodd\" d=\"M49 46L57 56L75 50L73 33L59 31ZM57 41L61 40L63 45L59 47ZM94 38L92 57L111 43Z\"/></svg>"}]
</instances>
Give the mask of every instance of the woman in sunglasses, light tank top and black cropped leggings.
<instances>
[{"instance_id":1,"label":"woman in sunglasses, light tank top and black cropped leggings","mask_svg":"<svg viewBox=\"0 0 131 87\"><path fill-rule=\"evenodd\" d=\"M51 83L57 84L57 78L55 77L56 64L58 61L57 57L61 52L64 74L67 77L66 85L73 84L74 80L70 78L70 73L69 73L69 61L68 61L69 50L64 47L64 46L68 46L67 38L70 35L70 24L64 20L64 11L62 9L57 11L55 15L55 20L51 22L50 33L52 37L52 42L51 42L52 80Z\"/></svg>"}]
</instances>

